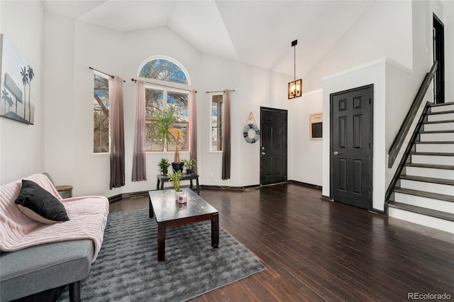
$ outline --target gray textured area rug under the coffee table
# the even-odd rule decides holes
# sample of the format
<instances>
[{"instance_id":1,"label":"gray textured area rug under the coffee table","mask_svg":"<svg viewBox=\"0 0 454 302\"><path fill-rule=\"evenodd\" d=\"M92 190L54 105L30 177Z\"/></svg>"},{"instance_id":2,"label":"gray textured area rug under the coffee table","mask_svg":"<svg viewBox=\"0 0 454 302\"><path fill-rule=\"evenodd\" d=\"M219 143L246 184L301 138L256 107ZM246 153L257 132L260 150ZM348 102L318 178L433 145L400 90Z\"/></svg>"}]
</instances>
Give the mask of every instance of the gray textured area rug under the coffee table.
<instances>
[{"instance_id":1,"label":"gray textured area rug under the coffee table","mask_svg":"<svg viewBox=\"0 0 454 302\"><path fill-rule=\"evenodd\" d=\"M109 214L82 301L186 301L265 269L223 228L213 249L210 221L167 228L165 245L165 262L157 262L148 208ZM69 301L67 290L59 301Z\"/></svg>"}]
</instances>

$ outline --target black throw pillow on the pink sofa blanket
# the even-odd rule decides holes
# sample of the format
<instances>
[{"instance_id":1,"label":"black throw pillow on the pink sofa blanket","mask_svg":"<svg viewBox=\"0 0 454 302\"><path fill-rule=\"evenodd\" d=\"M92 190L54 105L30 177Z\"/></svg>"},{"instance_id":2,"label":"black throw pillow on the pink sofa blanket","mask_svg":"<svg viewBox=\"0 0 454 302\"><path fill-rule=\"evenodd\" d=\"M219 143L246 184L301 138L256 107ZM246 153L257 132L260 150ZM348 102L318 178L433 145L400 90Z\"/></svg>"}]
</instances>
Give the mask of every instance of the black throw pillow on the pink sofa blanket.
<instances>
[{"instance_id":1,"label":"black throw pillow on the pink sofa blanket","mask_svg":"<svg viewBox=\"0 0 454 302\"><path fill-rule=\"evenodd\" d=\"M19 210L40 223L62 223L70 220L65 206L34 181L22 179L21 193L14 201Z\"/></svg>"}]
</instances>

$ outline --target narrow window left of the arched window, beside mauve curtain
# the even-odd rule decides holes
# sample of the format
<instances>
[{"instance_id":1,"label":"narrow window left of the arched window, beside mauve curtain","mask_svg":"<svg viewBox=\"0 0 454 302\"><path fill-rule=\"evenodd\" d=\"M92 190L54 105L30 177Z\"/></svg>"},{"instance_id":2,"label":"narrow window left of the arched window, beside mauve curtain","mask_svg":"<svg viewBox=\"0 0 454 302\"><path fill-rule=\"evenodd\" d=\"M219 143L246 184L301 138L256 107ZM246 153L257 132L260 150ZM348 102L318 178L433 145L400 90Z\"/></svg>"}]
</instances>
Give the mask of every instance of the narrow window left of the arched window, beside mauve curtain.
<instances>
[{"instance_id":1,"label":"narrow window left of the arched window, beside mauve curtain","mask_svg":"<svg viewBox=\"0 0 454 302\"><path fill-rule=\"evenodd\" d=\"M109 152L109 78L94 73L93 152Z\"/></svg>"}]
</instances>

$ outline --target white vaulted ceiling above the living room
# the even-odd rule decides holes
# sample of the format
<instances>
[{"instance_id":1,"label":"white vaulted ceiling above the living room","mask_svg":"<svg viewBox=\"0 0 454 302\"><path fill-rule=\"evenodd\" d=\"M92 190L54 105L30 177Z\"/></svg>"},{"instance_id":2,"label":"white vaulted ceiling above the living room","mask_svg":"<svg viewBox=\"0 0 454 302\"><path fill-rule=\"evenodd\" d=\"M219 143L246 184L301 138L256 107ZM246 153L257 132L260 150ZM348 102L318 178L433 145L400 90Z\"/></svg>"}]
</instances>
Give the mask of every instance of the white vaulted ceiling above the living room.
<instances>
[{"instance_id":1,"label":"white vaulted ceiling above the living room","mask_svg":"<svg viewBox=\"0 0 454 302\"><path fill-rule=\"evenodd\" d=\"M118 31L167 26L196 49L304 77L370 1L43 0L45 9Z\"/></svg>"}]
</instances>

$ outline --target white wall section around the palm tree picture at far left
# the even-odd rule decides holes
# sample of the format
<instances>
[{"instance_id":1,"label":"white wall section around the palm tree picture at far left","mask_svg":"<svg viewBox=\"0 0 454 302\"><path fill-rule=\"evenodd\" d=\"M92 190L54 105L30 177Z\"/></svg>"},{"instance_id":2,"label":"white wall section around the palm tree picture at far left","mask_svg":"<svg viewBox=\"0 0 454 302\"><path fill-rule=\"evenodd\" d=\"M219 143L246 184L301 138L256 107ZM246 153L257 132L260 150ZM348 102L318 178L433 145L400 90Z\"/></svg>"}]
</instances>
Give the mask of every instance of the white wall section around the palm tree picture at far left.
<instances>
[{"instance_id":1,"label":"white wall section around the palm tree picture at far left","mask_svg":"<svg viewBox=\"0 0 454 302\"><path fill-rule=\"evenodd\" d=\"M0 117L0 184L43 172L44 8L41 1L0 1L0 28L33 67L35 124Z\"/></svg>"}]
</instances>

